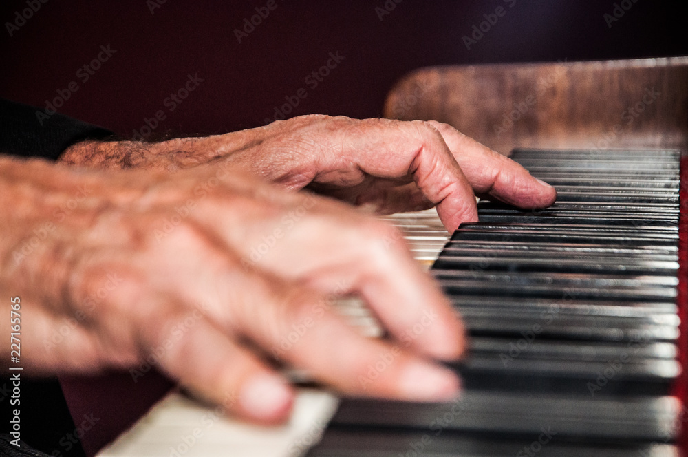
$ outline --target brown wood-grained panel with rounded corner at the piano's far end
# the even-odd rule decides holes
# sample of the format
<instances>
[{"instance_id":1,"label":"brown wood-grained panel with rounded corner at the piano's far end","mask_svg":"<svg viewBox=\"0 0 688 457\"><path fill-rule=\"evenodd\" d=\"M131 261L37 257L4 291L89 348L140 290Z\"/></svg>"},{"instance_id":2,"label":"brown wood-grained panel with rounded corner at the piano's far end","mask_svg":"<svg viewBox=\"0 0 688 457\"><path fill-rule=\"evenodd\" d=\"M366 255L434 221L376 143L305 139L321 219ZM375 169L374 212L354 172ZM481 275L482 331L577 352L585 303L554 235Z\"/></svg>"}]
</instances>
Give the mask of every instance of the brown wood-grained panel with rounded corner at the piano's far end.
<instances>
[{"instance_id":1,"label":"brown wood-grained panel with rounded corner at the piano's far end","mask_svg":"<svg viewBox=\"0 0 688 457\"><path fill-rule=\"evenodd\" d=\"M439 120L501 153L514 147L688 145L688 57L427 67L385 117Z\"/></svg>"}]
</instances>

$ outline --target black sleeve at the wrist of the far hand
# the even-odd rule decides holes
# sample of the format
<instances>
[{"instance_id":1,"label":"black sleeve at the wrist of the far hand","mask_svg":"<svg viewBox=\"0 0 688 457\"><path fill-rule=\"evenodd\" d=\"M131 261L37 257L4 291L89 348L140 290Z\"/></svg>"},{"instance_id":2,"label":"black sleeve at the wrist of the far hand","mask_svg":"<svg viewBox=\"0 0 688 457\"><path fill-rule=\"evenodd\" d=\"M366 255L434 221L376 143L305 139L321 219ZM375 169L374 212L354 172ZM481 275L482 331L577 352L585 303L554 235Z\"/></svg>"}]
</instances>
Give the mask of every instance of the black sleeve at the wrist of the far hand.
<instances>
[{"instance_id":1,"label":"black sleeve at the wrist of the far hand","mask_svg":"<svg viewBox=\"0 0 688 457\"><path fill-rule=\"evenodd\" d=\"M74 143L111 136L103 127L0 98L0 153L56 160Z\"/></svg>"}]
</instances>

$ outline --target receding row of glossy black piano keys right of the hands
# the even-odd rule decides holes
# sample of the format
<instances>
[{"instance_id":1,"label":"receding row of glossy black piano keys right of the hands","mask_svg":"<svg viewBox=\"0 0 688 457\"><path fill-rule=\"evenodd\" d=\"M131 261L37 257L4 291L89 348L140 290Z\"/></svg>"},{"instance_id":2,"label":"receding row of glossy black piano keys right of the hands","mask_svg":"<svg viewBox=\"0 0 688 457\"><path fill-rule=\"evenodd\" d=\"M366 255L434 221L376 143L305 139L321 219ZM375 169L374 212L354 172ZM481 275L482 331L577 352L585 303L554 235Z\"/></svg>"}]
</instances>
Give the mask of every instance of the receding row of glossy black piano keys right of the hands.
<instances>
[{"instance_id":1,"label":"receding row of glossy black piano keys right of the hands","mask_svg":"<svg viewBox=\"0 0 688 457\"><path fill-rule=\"evenodd\" d=\"M309 457L680 455L680 153L513 158L557 203L480 202L431 269L471 335L462 397L347 398Z\"/></svg>"}]
</instances>

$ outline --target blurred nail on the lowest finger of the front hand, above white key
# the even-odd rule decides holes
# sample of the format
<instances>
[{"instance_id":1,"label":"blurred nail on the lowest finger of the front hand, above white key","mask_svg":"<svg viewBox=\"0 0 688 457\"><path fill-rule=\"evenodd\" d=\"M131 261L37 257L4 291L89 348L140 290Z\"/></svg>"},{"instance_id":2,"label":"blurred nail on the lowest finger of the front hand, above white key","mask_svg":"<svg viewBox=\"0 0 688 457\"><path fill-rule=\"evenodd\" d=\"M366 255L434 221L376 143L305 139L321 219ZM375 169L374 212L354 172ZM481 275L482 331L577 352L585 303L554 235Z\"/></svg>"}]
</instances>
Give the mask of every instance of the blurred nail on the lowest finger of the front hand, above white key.
<instances>
[{"instance_id":1,"label":"blurred nail on the lowest finger of the front hand, above white key","mask_svg":"<svg viewBox=\"0 0 688 457\"><path fill-rule=\"evenodd\" d=\"M279 376L261 374L249 379L241 390L241 405L255 418L265 421L280 418L290 409L293 394Z\"/></svg>"}]
</instances>

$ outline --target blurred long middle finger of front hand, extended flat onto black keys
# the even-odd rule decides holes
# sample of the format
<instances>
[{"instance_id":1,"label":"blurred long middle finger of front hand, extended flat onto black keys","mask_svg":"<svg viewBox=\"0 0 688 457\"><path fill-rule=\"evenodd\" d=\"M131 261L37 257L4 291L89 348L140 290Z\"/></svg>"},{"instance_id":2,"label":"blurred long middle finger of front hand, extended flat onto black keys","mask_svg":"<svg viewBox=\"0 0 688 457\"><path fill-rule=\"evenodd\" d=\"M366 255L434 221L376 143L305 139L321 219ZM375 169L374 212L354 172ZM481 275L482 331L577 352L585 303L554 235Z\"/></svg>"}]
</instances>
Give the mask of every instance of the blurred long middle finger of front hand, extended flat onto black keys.
<instances>
[{"instance_id":1,"label":"blurred long middle finger of front hand, extended flat onto black keys","mask_svg":"<svg viewBox=\"0 0 688 457\"><path fill-rule=\"evenodd\" d=\"M460 382L451 370L399 345L361 336L330 308L332 297L256 270L241 274L240 288L233 284L237 275L232 277L219 281L220 288L196 291L213 304L211 314L217 311L219 321L231 321L231 328L272 357L314 379L346 394L413 401L447 400L458 393ZM232 303L223 306L228 296ZM223 312L228 307L233 310Z\"/></svg>"}]
</instances>

